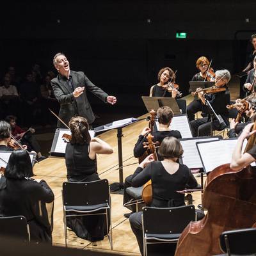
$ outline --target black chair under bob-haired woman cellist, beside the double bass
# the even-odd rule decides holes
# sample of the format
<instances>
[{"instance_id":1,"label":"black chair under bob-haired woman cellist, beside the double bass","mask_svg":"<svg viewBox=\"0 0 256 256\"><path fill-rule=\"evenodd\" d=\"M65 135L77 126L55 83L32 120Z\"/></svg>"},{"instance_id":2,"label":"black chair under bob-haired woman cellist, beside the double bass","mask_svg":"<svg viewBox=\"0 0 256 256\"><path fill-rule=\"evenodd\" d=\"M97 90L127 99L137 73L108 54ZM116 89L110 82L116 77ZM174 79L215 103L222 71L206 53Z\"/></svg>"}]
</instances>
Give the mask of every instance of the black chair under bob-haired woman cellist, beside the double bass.
<instances>
[{"instance_id":1,"label":"black chair under bob-haired woman cellist, beside the double bass","mask_svg":"<svg viewBox=\"0 0 256 256\"><path fill-rule=\"evenodd\" d=\"M177 243L180 234L190 221L195 221L194 205L171 208L143 207L143 252L147 244Z\"/></svg>"}]
</instances>

